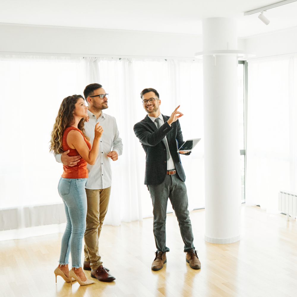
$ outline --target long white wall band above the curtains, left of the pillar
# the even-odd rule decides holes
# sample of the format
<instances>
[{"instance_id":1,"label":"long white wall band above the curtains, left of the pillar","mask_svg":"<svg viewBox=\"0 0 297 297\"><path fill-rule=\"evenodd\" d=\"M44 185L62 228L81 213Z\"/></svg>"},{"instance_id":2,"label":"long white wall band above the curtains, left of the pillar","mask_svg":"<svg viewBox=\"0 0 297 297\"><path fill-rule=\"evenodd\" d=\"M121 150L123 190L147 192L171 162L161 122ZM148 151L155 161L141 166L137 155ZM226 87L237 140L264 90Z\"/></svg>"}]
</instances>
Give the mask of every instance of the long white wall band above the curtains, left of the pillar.
<instances>
[{"instance_id":1,"label":"long white wall band above the curtains, left of the pillar","mask_svg":"<svg viewBox=\"0 0 297 297\"><path fill-rule=\"evenodd\" d=\"M192 58L201 50L193 34L0 24L2 53Z\"/></svg>"}]
</instances>

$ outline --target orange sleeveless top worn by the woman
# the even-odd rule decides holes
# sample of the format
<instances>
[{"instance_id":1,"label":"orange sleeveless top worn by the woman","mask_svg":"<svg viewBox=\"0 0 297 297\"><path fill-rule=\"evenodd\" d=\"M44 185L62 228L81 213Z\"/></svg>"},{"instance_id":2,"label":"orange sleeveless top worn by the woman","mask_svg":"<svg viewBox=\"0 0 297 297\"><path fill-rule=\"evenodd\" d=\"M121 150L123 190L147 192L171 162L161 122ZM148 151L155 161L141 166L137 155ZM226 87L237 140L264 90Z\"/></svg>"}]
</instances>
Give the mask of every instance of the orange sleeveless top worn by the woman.
<instances>
[{"instance_id":1,"label":"orange sleeveless top worn by the woman","mask_svg":"<svg viewBox=\"0 0 297 297\"><path fill-rule=\"evenodd\" d=\"M82 135L83 132L80 131L80 129L77 129L75 127L68 127L65 129L63 133L63 138L62 138L62 149L63 151L69 151L68 156L73 157L79 155L78 151L76 149L71 149L68 144L67 144L67 135L69 131L71 130L77 130L79 131ZM91 143L86 140L85 136L83 135L83 139L85 140L89 150L91 150ZM83 159L80 158L80 161L75 164L73 167L69 167L63 164L63 174L62 177L64 178L87 178L88 177L88 170L87 170L87 162Z\"/></svg>"}]
</instances>

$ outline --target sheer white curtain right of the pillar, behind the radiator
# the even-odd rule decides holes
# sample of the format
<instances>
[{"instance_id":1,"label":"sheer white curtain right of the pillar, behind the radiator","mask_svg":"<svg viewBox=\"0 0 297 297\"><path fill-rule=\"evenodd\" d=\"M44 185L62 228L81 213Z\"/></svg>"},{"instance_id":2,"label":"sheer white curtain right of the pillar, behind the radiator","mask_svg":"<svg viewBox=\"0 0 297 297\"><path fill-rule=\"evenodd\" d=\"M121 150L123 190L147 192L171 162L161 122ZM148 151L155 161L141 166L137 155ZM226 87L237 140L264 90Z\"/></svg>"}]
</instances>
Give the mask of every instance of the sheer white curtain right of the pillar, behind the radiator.
<instances>
[{"instance_id":1,"label":"sheer white curtain right of the pillar, behind the radiator","mask_svg":"<svg viewBox=\"0 0 297 297\"><path fill-rule=\"evenodd\" d=\"M248 64L246 203L278 211L278 192L297 192L297 56Z\"/></svg>"}]
</instances>

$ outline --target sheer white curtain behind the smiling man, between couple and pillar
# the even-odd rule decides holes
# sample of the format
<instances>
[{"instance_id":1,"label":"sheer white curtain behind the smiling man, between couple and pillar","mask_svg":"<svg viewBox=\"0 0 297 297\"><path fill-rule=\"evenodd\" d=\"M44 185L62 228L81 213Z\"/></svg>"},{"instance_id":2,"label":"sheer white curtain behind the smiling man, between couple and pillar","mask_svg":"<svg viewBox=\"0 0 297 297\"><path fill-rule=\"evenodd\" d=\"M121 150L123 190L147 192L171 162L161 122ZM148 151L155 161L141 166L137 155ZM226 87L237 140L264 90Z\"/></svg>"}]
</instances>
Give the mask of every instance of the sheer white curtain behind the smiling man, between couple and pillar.
<instances>
[{"instance_id":1,"label":"sheer white curtain behind the smiling man, between couple and pillar","mask_svg":"<svg viewBox=\"0 0 297 297\"><path fill-rule=\"evenodd\" d=\"M144 185L145 152L133 126L146 116L140 91L154 88L160 94L161 112L170 115L180 104L184 113L184 139L203 139L202 64L197 61L100 59L101 84L109 93L109 108L123 141L123 155L112 162L113 182L105 224L119 225L152 216L149 191ZM186 172L189 210L204 207L203 141L190 156L181 156ZM170 202L168 211L172 211Z\"/></svg>"}]
</instances>

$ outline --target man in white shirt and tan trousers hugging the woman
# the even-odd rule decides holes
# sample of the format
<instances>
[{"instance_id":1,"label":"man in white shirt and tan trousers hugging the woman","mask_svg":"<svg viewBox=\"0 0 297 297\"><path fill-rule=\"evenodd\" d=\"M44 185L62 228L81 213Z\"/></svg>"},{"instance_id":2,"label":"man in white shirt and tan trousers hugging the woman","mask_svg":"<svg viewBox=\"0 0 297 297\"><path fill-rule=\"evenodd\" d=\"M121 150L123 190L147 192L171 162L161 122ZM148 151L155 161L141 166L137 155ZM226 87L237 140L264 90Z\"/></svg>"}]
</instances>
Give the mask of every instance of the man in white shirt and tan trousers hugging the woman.
<instances>
[{"instance_id":1,"label":"man in white shirt and tan trousers hugging the woman","mask_svg":"<svg viewBox=\"0 0 297 297\"><path fill-rule=\"evenodd\" d=\"M91 277L102 282L111 282L115 278L108 273L108 269L102 266L99 255L98 239L102 224L107 213L110 189L111 189L111 167L110 159L116 161L122 154L123 144L119 137L116 119L105 114L102 110L108 108L108 94L99 83L86 86L83 94L88 103L89 119L85 122L86 136L93 144L94 128L100 122L103 134L100 138L99 152L94 165L87 165L89 177L86 183L87 194L87 217L85 240L85 261L83 269L91 270ZM113 150L111 150L113 149ZM69 157L69 151L56 155L56 161L67 166L74 166L80 160L80 156ZM109 159L110 158L110 159Z\"/></svg>"}]
</instances>

